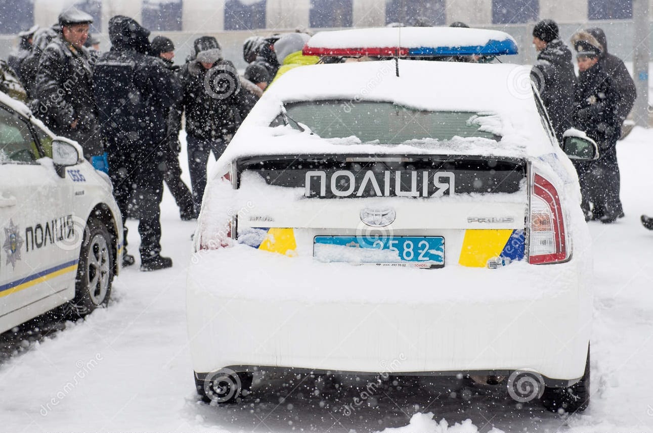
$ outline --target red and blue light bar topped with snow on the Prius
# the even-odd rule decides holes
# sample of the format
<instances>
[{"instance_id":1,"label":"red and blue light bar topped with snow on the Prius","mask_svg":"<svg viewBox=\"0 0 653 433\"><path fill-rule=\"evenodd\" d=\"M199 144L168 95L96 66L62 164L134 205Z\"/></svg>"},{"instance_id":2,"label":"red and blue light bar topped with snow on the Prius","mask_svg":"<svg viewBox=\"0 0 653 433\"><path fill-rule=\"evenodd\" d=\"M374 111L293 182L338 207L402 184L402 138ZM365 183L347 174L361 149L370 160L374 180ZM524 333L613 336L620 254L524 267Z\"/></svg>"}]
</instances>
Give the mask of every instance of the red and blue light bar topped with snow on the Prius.
<instances>
[{"instance_id":1,"label":"red and blue light bar topped with snow on the Prius","mask_svg":"<svg viewBox=\"0 0 653 433\"><path fill-rule=\"evenodd\" d=\"M503 31L459 27L381 27L321 31L304 55L334 57L445 57L517 54L517 42Z\"/></svg>"}]
</instances>

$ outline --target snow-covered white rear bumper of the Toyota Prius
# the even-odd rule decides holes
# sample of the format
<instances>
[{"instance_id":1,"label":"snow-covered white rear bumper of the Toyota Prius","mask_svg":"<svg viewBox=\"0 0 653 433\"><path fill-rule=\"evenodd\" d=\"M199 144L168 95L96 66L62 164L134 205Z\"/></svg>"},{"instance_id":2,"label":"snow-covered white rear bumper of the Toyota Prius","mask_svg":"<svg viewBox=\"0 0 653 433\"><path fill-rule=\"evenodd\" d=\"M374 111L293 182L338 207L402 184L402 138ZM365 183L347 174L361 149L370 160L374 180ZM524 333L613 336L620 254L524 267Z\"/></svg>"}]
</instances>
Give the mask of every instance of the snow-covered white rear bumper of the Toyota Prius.
<instances>
[{"instance_id":1,"label":"snow-covered white rear bumper of the Toyota Prius","mask_svg":"<svg viewBox=\"0 0 653 433\"><path fill-rule=\"evenodd\" d=\"M206 252L187 285L193 369L527 369L575 380L591 322L578 263L424 270L315 263L246 246Z\"/></svg>"}]
</instances>

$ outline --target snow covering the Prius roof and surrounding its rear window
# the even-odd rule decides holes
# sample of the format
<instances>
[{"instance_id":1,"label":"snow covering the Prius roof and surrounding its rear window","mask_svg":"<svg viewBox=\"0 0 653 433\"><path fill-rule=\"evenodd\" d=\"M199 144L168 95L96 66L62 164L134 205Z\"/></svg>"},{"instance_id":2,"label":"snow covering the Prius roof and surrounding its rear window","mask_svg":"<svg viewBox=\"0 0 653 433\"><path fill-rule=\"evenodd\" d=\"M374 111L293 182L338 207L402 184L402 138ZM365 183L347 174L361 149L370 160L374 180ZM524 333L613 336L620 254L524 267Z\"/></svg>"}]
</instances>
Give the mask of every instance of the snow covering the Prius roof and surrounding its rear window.
<instances>
[{"instance_id":1,"label":"snow covering the Prius roof and surrounding its rear window","mask_svg":"<svg viewBox=\"0 0 653 433\"><path fill-rule=\"evenodd\" d=\"M400 60L313 65L290 70L263 94L223 154L225 161L255 155L298 153L438 153L539 156L554 153L530 84L530 67ZM354 137L326 140L291 127L270 127L282 104L311 100L392 102L417 110L494 114L500 142L460 138L460 145L415 137L422 145L360 144ZM310 128L310 125L308 125ZM464 143L464 145L462 145ZM557 148L557 146L556 146Z\"/></svg>"}]
</instances>

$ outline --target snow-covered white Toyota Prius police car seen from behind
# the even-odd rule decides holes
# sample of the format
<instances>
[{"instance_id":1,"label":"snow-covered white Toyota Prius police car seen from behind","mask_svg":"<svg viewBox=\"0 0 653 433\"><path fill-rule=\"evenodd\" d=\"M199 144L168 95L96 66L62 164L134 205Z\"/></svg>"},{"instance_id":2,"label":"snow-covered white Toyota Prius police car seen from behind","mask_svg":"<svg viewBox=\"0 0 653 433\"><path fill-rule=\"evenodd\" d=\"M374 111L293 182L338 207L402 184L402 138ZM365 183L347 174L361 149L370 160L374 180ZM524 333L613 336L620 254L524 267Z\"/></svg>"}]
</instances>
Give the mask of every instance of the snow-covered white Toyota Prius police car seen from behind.
<instances>
[{"instance_id":1,"label":"snow-covered white Toyota Prius police car seen from behind","mask_svg":"<svg viewBox=\"0 0 653 433\"><path fill-rule=\"evenodd\" d=\"M590 237L569 158L597 147L556 141L530 68L471 62L515 50L479 29L311 38L306 54L400 58L287 72L219 159L187 284L201 395L234 400L257 369L393 365L585 408Z\"/></svg>"}]
</instances>

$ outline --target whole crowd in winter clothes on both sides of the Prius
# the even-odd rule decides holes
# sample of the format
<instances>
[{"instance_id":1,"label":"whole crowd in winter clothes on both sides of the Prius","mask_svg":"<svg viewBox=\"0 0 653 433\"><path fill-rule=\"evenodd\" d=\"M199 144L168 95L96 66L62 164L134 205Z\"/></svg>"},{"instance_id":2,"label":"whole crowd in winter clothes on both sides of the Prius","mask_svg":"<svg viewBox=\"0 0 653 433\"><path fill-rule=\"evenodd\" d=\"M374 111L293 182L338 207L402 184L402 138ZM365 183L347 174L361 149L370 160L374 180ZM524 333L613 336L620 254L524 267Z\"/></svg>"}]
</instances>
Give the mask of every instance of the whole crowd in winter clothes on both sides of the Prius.
<instances>
[{"instance_id":1,"label":"whole crowd in winter clothes on both sides of the Prius","mask_svg":"<svg viewBox=\"0 0 653 433\"><path fill-rule=\"evenodd\" d=\"M215 37L195 39L193 52L177 66L172 40L157 36L150 41L150 31L132 18L110 19L112 46L104 53L89 37L91 23L86 12L67 8L52 27L21 33L19 50L7 63L33 113L56 134L80 143L84 156L108 173L123 222L128 217L139 220L141 269L164 269L172 260L161 255L163 183L180 217L197 218L210 154L217 159L223 153L278 76L319 58L302 55L306 33L250 37L243 46L248 66L239 76ZM555 22L537 23L533 37L538 55L532 78L558 142L573 127L599 145L597 160L574 162L586 220L614 222L624 216L616 141L635 101L633 80L624 63L607 51L601 29L579 31L571 38L578 76ZM182 117L190 188L181 179L178 158ZM126 228L124 234L127 246ZM127 248L122 261L135 263Z\"/></svg>"}]
</instances>

